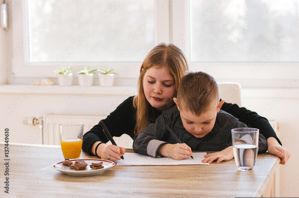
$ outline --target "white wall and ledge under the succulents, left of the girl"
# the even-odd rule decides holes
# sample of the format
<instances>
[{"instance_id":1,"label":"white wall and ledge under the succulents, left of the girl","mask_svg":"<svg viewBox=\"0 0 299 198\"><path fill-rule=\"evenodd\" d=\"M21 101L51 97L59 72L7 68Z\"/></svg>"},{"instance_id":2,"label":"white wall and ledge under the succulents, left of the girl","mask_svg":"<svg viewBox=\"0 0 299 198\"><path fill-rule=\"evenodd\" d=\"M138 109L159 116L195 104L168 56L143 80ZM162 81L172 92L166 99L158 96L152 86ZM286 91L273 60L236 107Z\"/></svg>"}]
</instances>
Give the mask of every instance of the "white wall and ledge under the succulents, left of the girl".
<instances>
[{"instance_id":1,"label":"white wall and ledge under the succulents, left of the girl","mask_svg":"<svg viewBox=\"0 0 299 198\"><path fill-rule=\"evenodd\" d=\"M84 87L0 85L1 127L3 130L5 127L9 128L10 142L28 143L29 140L32 144L41 143L38 125L23 124L23 119L26 117L39 118L50 113L108 115L126 98L136 93L135 85L122 89L86 87L80 94L77 94L81 88ZM55 89L57 93L53 93ZM109 89L111 94L99 94L99 92L106 93Z\"/></svg>"}]
</instances>

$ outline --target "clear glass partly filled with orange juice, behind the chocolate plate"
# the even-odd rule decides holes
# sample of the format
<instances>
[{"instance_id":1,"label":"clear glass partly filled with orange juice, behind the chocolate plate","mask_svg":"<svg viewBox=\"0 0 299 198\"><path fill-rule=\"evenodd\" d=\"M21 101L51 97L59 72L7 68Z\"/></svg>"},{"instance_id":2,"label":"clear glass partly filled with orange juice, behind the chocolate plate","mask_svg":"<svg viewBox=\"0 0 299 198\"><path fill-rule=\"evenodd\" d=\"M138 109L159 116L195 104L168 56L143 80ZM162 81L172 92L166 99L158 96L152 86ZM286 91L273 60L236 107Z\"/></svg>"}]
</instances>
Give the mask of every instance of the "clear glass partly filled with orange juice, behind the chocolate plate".
<instances>
[{"instance_id":1,"label":"clear glass partly filled with orange juice, behind the chocolate plate","mask_svg":"<svg viewBox=\"0 0 299 198\"><path fill-rule=\"evenodd\" d=\"M79 159L83 140L83 123L59 123L60 145L65 160Z\"/></svg>"}]
</instances>

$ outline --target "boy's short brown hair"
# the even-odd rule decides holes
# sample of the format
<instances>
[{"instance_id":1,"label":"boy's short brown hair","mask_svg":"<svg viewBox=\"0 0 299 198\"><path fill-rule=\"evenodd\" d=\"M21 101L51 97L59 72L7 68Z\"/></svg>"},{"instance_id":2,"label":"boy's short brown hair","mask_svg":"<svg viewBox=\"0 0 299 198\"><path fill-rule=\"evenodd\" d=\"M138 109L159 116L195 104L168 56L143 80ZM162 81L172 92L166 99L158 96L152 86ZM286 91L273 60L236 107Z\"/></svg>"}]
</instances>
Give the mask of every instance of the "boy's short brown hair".
<instances>
[{"instance_id":1,"label":"boy's short brown hair","mask_svg":"<svg viewBox=\"0 0 299 198\"><path fill-rule=\"evenodd\" d=\"M177 99L180 110L190 110L199 116L211 108L218 107L218 83L205 72L188 72L181 78Z\"/></svg>"}]
</instances>

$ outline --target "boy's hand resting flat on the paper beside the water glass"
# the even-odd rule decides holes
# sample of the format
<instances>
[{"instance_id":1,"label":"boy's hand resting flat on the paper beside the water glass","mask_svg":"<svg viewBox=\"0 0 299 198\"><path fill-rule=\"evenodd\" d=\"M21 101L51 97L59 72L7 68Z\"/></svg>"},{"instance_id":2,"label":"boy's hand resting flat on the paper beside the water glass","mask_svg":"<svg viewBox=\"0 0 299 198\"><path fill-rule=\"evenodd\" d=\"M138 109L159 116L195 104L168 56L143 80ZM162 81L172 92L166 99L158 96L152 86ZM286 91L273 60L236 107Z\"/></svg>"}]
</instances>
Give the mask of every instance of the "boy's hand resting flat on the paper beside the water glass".
<instances>
[{"instance_id":1,"label":"boy's hand resting flat on the paper beside the water glass","mask_svg":"<svg viewBox=\"0 0 299 198\"><path fill-rule=\"evenodd\" d=\"M217 163L220 163L221 161L231 160L234 158L233 146L229 146L222 151L204 155L204 157L205 159L202 160L203 163L212 163L216 159L218 159Z\"/></svg>"}]
</instances>

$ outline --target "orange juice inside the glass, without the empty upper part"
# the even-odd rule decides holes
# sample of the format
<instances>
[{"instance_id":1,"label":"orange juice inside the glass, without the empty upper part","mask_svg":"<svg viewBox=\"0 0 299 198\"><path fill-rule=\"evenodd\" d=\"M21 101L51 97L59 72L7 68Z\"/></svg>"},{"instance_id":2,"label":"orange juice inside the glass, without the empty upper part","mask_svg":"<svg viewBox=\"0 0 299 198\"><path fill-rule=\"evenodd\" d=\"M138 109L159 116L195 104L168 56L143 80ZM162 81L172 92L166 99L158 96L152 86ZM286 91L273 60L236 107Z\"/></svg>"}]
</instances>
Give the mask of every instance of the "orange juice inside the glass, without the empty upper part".
<instances>
[{"instance_id":1,"label":"orange juice inside the glass, without the empty upper part","mask_svg":"<svg viewBox=\"0 0 299 198\"><path fill-rule=\"evenodd\" d=\"M63 157L75 159L80 157L82 140L79 138L68 138L60 141Z\"/></svg>"}]
</instances>

